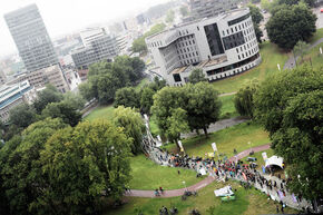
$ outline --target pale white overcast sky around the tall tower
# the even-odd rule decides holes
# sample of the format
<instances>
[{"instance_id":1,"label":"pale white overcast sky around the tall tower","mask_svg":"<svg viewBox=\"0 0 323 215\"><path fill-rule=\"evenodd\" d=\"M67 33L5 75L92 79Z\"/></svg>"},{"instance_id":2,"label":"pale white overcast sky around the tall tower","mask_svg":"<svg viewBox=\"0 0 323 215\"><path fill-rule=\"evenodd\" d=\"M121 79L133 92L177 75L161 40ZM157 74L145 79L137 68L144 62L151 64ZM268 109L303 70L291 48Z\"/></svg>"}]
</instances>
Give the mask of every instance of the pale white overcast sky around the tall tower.
<instances>
[{"instance_id":1,"label":"pale white overcast sky around the tall tower","mask_svg":"<svg viewBox=\"0 0 323 215\"><path fill-rule=\"evenodd\" d=\"M3 16L36 3L49 36L56 38L94 23L136 16L168 0L0 0L0 57L18 52Z\"/></svg>"}]
</instances>

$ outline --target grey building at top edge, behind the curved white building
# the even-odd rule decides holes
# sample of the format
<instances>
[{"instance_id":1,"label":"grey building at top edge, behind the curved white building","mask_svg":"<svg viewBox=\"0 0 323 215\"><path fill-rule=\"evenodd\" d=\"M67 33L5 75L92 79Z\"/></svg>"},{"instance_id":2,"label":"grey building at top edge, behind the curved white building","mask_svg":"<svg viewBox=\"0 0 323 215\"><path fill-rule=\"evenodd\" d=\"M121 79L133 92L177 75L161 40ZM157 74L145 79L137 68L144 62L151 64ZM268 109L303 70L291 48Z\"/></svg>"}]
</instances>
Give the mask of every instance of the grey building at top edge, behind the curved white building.
<instances>
[{"instance_id":1,"label":"grey building at top edge, behind the curved white building","mask_svg":"<svg viewBox=\"0 0 323 215\"><path fill-rule=\"evenodd\" d=\"M216 17L237 8L237 0L189 0L195 19Z\"/></svg>"}]
</instances>

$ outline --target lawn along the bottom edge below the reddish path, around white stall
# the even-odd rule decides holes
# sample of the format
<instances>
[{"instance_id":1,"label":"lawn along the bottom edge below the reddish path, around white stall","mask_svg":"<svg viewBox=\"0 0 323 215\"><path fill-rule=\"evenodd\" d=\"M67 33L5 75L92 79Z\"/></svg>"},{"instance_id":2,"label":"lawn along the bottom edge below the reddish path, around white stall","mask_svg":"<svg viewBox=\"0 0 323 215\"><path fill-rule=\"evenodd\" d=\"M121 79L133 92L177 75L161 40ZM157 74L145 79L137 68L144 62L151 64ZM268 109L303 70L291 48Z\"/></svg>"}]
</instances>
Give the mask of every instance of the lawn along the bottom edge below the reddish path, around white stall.
<instances>
[{"instance_id":1,"label":"lawn along the bottom edge below the reddish path, around white stall","mask_svg":"<svg viewBox=\"0 0 323 215\"><path fill-rule=\"evenodd\" d=\"M236 201L222 203L215 197L214 189L222 188L231 184L235 192ZM182 201L180 197L173 198L138 198L127 197L127 203L119 208L107 208L105 215L137 215L136 209L141 209L144 215L157 215L159 208L176 206L178 215L187 215L193 208L197 208L200 214L209 215L254 215L254 214L275 214L276 204L268 201L266 195L255 189L244 189L235 182L213 183L198 192L198 196L188 197ZM286 214L296 213L292 208L285 209Z\"/></svg>"}]
</instances>

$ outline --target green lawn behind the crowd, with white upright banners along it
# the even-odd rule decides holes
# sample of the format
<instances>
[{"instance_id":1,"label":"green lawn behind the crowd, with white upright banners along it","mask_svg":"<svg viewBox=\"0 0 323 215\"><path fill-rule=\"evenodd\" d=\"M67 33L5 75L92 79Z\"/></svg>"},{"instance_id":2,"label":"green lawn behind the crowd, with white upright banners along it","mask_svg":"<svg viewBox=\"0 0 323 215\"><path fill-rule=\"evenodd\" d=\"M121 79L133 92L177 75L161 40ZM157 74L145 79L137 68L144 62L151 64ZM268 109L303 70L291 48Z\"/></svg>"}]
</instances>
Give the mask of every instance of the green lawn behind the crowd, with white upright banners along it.
<instances>
[{"instance_id":1,"label":"green lawn behind the crowd, with white upright banners along it","mask_svg":"<svg viewBox=\"0 0 323 215\"><path fill-rule=\"evenodd\" d=\"M249 125L248 125L249 124ZM185 152L190 156L203 156L212 153L212 143L216 143L219 154L232 157L234 148L239 153L252 146L261 146L270 143L268 134L257 124L243 123L216 133L209 134L208 138L204 135L184 139L183 145ZM168 150L177 150L176 146L166 146Z\"/></svg>"}]
</instances>

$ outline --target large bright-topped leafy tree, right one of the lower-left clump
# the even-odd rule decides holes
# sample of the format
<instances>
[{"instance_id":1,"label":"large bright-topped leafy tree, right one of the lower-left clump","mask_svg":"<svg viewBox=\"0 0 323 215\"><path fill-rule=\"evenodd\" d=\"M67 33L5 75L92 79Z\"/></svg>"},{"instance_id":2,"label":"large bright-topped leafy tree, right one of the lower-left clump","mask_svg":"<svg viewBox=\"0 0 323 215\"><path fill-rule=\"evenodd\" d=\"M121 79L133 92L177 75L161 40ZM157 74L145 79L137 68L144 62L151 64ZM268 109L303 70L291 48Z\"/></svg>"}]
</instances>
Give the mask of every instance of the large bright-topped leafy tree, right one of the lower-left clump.
<instances>
[{"instance_id":1,"label":"large bright-topped leafy tree, right one of the lower-left clump","mask_svg":"<svg viewBox=\"0 0 323 215\"><path fill-rule=\"evenodd\" d=\"M58 130L40 158L49 190L32 209L43 214L100 213L102 195L111 199L123 196L130 179L128 157L129 140L121 128L108 121L85 121L74 129Z\"/></svg>"}]
</instances>

